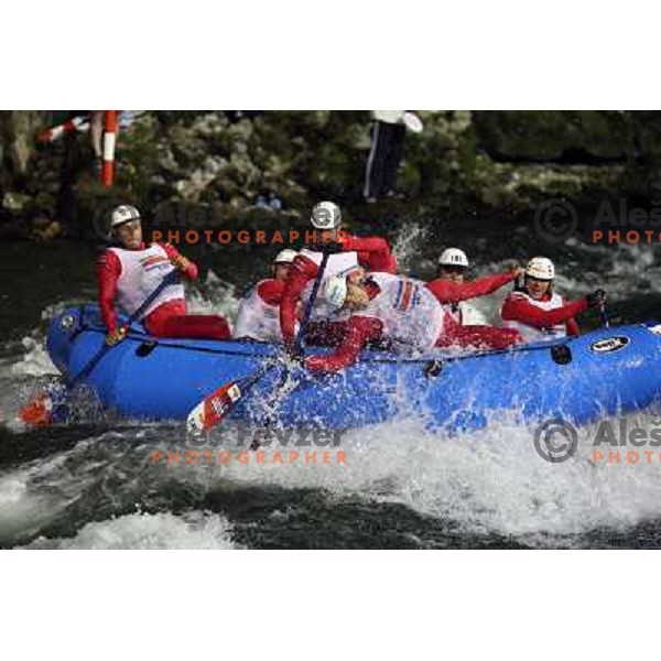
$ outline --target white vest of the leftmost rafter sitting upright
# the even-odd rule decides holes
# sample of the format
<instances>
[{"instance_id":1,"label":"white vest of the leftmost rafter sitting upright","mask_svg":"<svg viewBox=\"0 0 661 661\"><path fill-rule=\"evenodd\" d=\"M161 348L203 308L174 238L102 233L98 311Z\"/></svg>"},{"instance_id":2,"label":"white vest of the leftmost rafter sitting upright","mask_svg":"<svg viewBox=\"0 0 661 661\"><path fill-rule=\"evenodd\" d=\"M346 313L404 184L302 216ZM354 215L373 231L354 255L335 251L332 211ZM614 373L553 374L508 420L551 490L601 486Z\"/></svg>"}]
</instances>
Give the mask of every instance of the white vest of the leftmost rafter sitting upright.
<instances>
[{"instance_id":1,"label":"white vest of the leftmost rafter sitting upright","mask_svg":"<svg viewBox=\"0 0 661 661\"><path fill-rule=\"evenodd\" d=\"M164 248L152 243L144 250L124 250L108 248L121 263L121 274L117 281L117 299L121 310L131 315L144 300L159 286L165 275L174 270ZM167 285L142 313L143 319L163 303L184 300L184 285Z\"/></svg>"}]
</instances>

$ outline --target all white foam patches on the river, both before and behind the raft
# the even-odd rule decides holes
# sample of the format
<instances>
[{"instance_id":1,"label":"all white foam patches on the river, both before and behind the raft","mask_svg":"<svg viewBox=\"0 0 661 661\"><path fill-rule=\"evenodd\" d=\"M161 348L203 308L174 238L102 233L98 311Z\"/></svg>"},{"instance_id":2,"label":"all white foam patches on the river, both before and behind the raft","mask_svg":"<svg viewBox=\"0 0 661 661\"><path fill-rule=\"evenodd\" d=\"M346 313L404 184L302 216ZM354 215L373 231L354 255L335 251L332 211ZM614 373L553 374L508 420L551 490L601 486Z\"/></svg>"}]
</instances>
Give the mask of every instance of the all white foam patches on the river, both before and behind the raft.
<instances>
[{"instance_id":1,"label":"all white foam patches on the river, both before and behind the raft","mask_svg":"<svg viewBox=\"0 0 661 661\"><path fill-rule=\"evenodd\" d=\"M404 256L411 243L402 243ZM654 275L652 247L573 246L586 259L598 254L599 270L616 294L639 290L661 291ZM593 254L594 253L594 254ZM401 257L401 256L400 256ZM405 261L405 259L403 260ZM636 267L638 264L638 267ZM501 270L501 263L476 269L476 275ZM570 297L593 289L597 274L557 264L559 286ZM595 280L596 279L596 280ZM192 293L192 311L231 317L238 304L234 288L210 277L208 291ZM496 318L500 299L509 291L475 302L478 313ZM46 318L62 310L44 311ZM4 360L0 375L33 377L52 373L42 340L35 334L22 340L23 353ZM0 401L0 405L3 402ZM652 420L639 416L644 429ZM448 438L410 421L353 430L343 437L346 465L336 463L283 465L267 463L225 466L145 467L144 462L117 465L105 458L95 440L79 443L69 453L39 460L0 475L0 539L25 535L58 517L87 491L105 488L109 477L121 478L122 498L164 485L195 483L203 491L218 488L218 480L239 485L277 485L283 488L321 488L336 498L397 502L438 519L448 519L469 532L498 532L538 545L579 543L596 528L620 530L661 517L661 463L598 465L588 459L592 447L582 432L576 457L564 464L543 462L533 447L533 430L501 421L489 429ZM132 435L132 433L131 433ZM297 449L297 448L294 448ZM314 449L314 448L307 448ZM335 448L329 448L333 453ZM318 453L323 452L317 448ZM119 477L118 477L119 476ZM115 484L115 483L112 483ZM101 487L99 487L101 485ZM101 490L102 490L101 488ZM201 518L196 518L201 517ZM225 544L225 545L224 545ZM37 540L30 548L229 548L227 521L217 514L134 513L88 523L72 539Z\"/></svg>"}]
</instances>

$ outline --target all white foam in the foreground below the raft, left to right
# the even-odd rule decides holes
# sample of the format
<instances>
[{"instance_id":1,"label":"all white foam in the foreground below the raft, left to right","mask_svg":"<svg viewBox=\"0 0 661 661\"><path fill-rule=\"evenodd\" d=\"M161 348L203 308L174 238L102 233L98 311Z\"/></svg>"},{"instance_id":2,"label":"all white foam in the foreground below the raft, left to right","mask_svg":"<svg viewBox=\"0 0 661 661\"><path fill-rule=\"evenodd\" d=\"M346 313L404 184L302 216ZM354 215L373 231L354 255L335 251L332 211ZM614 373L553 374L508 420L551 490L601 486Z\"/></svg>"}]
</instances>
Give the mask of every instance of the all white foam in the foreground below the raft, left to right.
<instances>
[{"instance_id":1,"label":"all white foam in the foreground below the raft, left to right","mask_svg":"<svg viewBox=\"0 0 661 661\"><path fill-rule=\"evenodd\" d=\"M651 430L650 416L631 416L629 424ZM512 421L492 423L479 432L447 437L416 421L399 421L351 430L339 447L264 448L248 464L169 466L153 464L148 452L112 457L102 447L122 434L107 432L78 443L67 453L39 459L0 476L0 540L6 545L36 534L66 516L76 502L94 508L97 498L118 508L137 495L166 494L194 485L202 494L239 487L278 486L323 489L337 499L400 503L425 517L452 521L467 533L499 533L533 545L581 545L595 529L624 530L661 517L661 462L638 465L594 465L589 434L579 431L579 451L563 464L549 464L535 452L534 429ZM166 449L166 430L153 437ZM173 432L172 440L177 434ZM316 449L316 463L296 459ZM346 453L337 463L336 452ZM280 451L283 463L273 463ZM330 463L323 463L324 451ZM178 487L177 487L178 485ZM159 505L160 503L160 505ZM216 514L188 518L170 513L136 513L85 525L73 539L39 540L31 548L229 548L227 521ZM12 542L12 540L14 540Z\"/></svg>"}]
</instances>

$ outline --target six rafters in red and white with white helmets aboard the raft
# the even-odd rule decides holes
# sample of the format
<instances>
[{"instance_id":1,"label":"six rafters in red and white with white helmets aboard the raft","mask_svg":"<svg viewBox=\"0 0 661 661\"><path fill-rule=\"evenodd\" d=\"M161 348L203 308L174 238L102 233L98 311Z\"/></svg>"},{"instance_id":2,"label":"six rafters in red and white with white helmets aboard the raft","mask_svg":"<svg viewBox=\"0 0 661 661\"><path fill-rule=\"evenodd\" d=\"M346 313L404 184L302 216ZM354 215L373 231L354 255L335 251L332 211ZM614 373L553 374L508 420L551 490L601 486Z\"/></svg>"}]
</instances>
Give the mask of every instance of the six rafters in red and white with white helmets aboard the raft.
<instances>
[{"instance_id":1,"label":"six rafters in red and white with white helmets aboard the raft","mask_svg":"<svg viewBox=\"0 0 661 661\"><path fill-rule=\"evenodd\" d=\"M332 202L319 203L340 227L340 210ZM182 279L196 280L197 267L169 243L145 245L141 218L130 205L111 215L111 236L117 247L108 248L97 267L99 305L115 345L127 328L118 322L116 306L131 315L176 269ZM147 307L141 321L155 337L245 339L283 343L295 353L295 336L312 294L324 252L329 253L318 294L313 301L305 342L334 347L324 355L308 356L312 371L338 371L353 364L364 347L424 353L434 347L505 349L516 344L579 334L575 316L588 307L602 307L606 294L597 290L574 302L553 291L555 268L545 257L534 257L525 269L465 281L468 258L448 248L438 259L437 279L431 282L397 274L397 259L380 237L335 235L336 241L310 246L301 251L281 250L271 273L240 301L234 335L219 315L187 313L183 284L164 288ZM514 282L514 290L500 310L502 326L464 324L462 302L494 293Z\"/></svg>"}]
</instances>

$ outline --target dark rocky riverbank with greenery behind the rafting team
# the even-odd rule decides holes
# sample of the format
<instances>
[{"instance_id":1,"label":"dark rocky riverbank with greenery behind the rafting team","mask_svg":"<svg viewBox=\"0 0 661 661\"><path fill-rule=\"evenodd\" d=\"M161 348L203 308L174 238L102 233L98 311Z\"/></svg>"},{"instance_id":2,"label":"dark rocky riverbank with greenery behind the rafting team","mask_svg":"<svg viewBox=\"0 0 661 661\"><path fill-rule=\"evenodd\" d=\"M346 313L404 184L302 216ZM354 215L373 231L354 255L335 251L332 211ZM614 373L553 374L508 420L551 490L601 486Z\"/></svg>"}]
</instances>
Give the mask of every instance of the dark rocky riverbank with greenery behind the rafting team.
<instances>
[{"instance_id":1,"label":"dark rocky riverbank with greenery behind the rafting team","mask_svg":"<svg viewBox=\"0 0 661 661\"><path fill-rule=\"evenodd\" d=\"M288 216L332 198L349 218L525 214L544 199L661 189L661 113L421 111L400 170L403 199L366 205L367 111L149 111L120 134L116 186L98 184L87 134L39 144L42 111L0 113L0 232L48 240L90 232L108 197L153 209L214 205L237 218L271 205Z\"/></svg>"}]
</instances>

